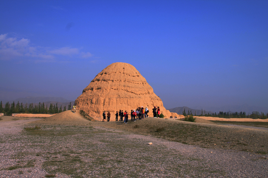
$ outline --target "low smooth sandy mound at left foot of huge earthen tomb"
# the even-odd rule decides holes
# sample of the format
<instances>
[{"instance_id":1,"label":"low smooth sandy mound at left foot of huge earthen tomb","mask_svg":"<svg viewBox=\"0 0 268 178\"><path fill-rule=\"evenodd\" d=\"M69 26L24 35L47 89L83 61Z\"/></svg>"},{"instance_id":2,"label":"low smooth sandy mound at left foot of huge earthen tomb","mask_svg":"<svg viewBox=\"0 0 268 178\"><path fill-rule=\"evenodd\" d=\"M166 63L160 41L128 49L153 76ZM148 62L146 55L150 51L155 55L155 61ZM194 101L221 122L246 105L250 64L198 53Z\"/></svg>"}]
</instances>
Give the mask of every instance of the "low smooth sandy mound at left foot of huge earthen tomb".
<instances>
[{"instance_id":1,"label":"low smooth sandy mound at left foot of huge earthen tomb","mask_svg":"<svg viewBox=\"0 0 268 178\"><path fill-rule=\"evenodd\" d=\"M44 125L86 125L90 122L91 121L85 119L82 115L80 115L79 110L77 110L76 113L68 110L31 123Z\"/></svg>"}]
</instances>

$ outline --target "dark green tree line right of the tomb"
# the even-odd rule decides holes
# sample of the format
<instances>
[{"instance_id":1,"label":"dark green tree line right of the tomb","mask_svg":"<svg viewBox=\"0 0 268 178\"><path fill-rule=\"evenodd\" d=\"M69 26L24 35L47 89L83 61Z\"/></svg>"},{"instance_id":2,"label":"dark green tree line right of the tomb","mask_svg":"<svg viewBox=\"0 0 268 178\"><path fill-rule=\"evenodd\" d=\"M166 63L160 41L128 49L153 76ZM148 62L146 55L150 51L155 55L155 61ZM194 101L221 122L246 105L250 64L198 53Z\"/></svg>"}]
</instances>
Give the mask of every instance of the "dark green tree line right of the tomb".
<instances>
[{"instance_id":1,"label":"dark green tree line right of the tomb","mask_svg":"<svg viewBox=\"0 0 268 178\"><path fill-rule=\"evenodd\" d=\"M191 116L205 116L205 117L220 117L220 118L251 118L251 119L267 119L268 118L268 113L264 114L264 112L259 113L258 111L254 111L252 113L246 114L246 112L222 112L220 111L219 113L206 113L206 110L203 109L201 110L200 115L194 115L192 114L192 111L188 110L188 113L186 113L185 108L183 110L183 115L191 115Z\"/></svg>"}]
</instances>

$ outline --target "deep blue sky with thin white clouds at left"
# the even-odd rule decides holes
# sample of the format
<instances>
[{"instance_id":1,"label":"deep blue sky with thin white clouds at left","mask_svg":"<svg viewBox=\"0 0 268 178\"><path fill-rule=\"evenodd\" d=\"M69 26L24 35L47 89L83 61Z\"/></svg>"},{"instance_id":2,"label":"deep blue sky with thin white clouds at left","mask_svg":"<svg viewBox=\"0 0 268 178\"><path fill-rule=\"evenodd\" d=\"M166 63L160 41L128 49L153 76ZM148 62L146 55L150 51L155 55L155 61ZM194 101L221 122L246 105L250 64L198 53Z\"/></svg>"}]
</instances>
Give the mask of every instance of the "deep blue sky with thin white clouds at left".
<instances>
[{"instance_id":1,"label":"deep blue sky with thin white clouds at left","mask_svg":"<svg viewBox=\"0 0 268 178\"><path fill-rule=\"evenodd\" d=\"M268 107L268 1L1 1L0 100L75 100L114 62L166 108Z\"/></svg>"}]
</instances>

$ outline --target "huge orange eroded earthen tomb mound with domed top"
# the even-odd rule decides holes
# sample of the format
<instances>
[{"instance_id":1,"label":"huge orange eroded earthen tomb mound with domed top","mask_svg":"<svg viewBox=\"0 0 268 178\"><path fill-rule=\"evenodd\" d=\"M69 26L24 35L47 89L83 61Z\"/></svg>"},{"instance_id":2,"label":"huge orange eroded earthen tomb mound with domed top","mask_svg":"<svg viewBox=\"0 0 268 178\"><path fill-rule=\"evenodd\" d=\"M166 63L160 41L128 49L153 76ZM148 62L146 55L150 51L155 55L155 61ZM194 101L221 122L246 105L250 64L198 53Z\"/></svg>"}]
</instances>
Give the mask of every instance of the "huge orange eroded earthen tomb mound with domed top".
<instances>
[{"instance_id":1,"label":"huge orange eroded earthen tomb mound with domed top","mask_svg":"<svg viewBox=\"0 0 268 178\"><path fill-rule=\"evenodd\" d=\"M134 66L121 62L112 63L96 75L75 104L78 110L84 110L91 117L102 117L104 111L110 111L111 121L115 120L119 109L130 114L131 110L142 106L149 109L150 117L154 106L159 106L166 117L177 115L163 107L161 99Z\"/></svg>"}]
</instances>

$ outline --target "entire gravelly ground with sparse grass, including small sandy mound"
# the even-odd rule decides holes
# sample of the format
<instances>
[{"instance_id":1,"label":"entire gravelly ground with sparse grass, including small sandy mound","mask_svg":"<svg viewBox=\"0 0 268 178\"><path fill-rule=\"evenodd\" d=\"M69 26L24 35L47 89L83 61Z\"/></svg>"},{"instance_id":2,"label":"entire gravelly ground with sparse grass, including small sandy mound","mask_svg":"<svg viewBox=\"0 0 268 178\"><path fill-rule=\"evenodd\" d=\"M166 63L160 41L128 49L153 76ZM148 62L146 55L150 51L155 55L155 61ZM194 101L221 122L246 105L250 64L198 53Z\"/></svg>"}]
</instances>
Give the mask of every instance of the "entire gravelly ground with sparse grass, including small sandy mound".
<instances>
[{"instance_id":1,"label":"entire gravelly ground with sparse grass, including small sandy mound","mask_svg":"<svg viewBox=\"0 0 268 178\"><path fill-rule=\"evenodd\" d=\"M265 127L72 111L1 119L0 177L268 177Z\"/></svg>"}]
</instances>

